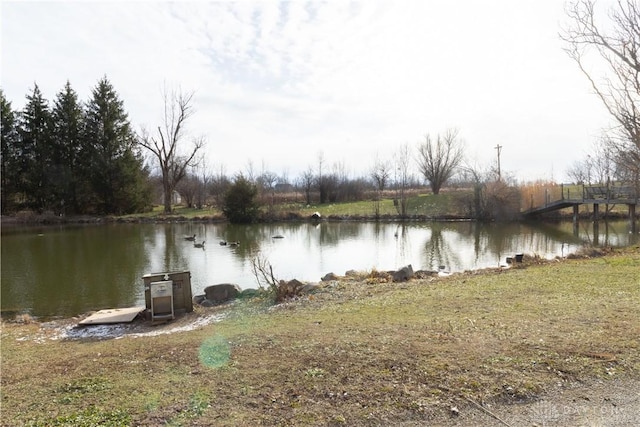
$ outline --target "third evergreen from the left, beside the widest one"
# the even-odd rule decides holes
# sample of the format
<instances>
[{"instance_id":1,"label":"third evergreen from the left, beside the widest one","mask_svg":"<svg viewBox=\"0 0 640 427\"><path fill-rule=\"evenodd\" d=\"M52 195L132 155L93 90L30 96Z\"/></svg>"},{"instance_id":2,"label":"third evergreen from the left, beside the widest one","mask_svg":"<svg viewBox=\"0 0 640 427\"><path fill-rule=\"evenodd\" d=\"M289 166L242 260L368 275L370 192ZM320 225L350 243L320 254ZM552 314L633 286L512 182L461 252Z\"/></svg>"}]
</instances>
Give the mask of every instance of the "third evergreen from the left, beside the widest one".
<instances>
[{"instance_id":1,"label":"third evergreen from the left, beside the widest one","mask_svg":"<svg viewBox=\"0 0 640 427\"><path fill-rule=\"evenodd\" d=\"M78 200L78 185L86 177L79 168L82 161L82 128L84 112L78 102L78 95L67 81L64 89L58 93L53 110L52 144L52 181L56 202L61 213L78 213L81 210ZM86 151L85 151L86 153Z\"/></svg>"}]
</instances>

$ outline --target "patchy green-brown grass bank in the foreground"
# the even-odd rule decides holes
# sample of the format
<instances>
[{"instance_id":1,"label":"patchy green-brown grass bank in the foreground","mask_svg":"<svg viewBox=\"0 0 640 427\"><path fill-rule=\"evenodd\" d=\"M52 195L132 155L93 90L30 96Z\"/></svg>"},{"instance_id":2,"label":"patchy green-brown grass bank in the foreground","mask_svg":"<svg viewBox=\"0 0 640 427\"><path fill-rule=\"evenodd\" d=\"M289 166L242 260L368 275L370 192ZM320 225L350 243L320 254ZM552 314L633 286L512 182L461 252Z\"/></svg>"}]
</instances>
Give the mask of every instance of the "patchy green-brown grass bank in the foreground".
<instances>
[{"instance_id":1,"label":"patchy green-brown grass bank in the foreground","mask_svg":"<svg viewBox=\"0 0 640 427\"><path fill-rule=\"evenodd\" d=\"M404 283L370 272L279 306L199 308L180 322L226 317L160 336L3 323L1 424L441 424L471 403L637 381L639 271L640 247Z\"/></svg>"}]
</instances>

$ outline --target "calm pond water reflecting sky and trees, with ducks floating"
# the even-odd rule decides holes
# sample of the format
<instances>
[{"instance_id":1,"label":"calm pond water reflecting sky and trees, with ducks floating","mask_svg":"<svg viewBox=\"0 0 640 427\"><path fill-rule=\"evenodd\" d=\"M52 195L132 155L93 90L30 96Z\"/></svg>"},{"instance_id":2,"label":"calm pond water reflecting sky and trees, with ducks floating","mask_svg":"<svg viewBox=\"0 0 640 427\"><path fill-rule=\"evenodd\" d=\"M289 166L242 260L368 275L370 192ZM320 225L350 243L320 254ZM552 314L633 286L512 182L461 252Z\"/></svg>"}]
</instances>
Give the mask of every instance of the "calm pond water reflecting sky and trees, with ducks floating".
<instances>
[{"instance_id":1,"label":"calm pond water reflecting sky and trees, with ducks floating","mask_svg":"<svg viewBox=\"0 0 640 427\"><path fill-rule=\"evenodd\" d=\"M577 233L576 233L577 232ZM196 234L199 249L184 239ZM282 236L282 238L274 238ZM239 241L238 247L220 241ZM193 294L216 283L256 288L251 258L262 254L279 279L319 281L347 270L463 271L496 267L515 253L567 255L585 244L640 241L627 221L560 224L283 223L107 224L3 227L3 315L74 316L103 308L144 305L142 276L191 271Z\"/></svg>"}]
</instances>

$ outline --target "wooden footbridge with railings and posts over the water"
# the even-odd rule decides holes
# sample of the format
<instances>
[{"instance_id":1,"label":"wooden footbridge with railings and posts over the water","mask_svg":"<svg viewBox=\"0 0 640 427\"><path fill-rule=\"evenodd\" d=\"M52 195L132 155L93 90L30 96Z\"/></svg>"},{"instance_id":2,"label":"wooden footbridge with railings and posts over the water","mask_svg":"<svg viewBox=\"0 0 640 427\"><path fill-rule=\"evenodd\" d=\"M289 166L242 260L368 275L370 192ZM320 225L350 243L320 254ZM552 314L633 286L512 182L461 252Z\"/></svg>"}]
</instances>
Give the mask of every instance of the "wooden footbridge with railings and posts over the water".
<instances>
[{"instance_id":1,"label":"wooden footbridge with railings and posts over the water","mask_svg":"<svg viewBox=\"0 0 640 427\"><path fill-rule=\"evenodd\" d=\"M639 192L632 186L620 185L582 185L565 186L560 184L560 197L552 200L551 192L545 190L544 204L533 206L522 212L525 218L532 218L561 209L573 208L573 219L578 220L580 205L593 205L593 219L599 219L600 205L627 205L629 220L634 223Z\"/></svg>"}]
</instances>

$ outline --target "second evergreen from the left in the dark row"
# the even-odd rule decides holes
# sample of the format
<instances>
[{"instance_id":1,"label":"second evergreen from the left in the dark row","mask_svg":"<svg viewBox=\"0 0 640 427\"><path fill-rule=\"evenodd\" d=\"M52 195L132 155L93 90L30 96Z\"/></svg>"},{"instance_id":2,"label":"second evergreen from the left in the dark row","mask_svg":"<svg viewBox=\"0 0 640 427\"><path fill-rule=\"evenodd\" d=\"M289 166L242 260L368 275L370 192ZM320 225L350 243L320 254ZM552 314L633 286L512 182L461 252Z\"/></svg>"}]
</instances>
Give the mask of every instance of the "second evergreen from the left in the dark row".
<instances>
[{"instance_id":1,"label":"second evergreen from the left in the dark row","mask_svg":"<svg viewBox=\"0 0 640 427\"><path fill-rule=\"evenodd\" d=\"M51 191L51 112L42 92L34 84L20 118L17 155L18 190L26 195L27 206L42 212L53 204Z\"/></svg>"}]
</instances>

